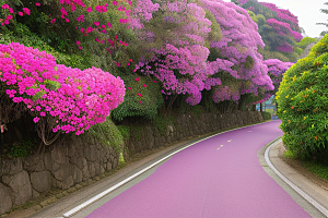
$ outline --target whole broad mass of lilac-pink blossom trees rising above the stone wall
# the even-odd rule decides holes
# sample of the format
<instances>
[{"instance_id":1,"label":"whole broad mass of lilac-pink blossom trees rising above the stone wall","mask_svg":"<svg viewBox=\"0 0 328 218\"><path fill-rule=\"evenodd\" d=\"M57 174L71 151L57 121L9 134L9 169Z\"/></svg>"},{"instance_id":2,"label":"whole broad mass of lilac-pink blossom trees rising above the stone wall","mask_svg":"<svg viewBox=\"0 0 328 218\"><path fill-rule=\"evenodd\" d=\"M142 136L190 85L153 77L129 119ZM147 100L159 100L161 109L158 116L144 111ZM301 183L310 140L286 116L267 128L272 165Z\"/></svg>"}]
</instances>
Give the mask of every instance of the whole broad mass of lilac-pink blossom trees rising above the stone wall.
<instances>
[{"instance_id":1,"label":"whole broad mass of lilac-pink blossom trees rising above the stone wall","mask_svg":"<svg viewBox=\"0 0 328 218\"><path fill-rule=\"evenodd\" d=\"M265 45L244 9L209 0L197 4L137 1L132 14L132 27L145 45L153 46L137 73L153 75L163 85L163 94L187 95L186 101L194 106L203 89L215 88L218 102L238 101L241 95L256 93L258 87L273 89L257 52L257 46ZM223 84L225 76L237 78L237 84L227 84L229 80Z\"/></svg>"}]
</instances>

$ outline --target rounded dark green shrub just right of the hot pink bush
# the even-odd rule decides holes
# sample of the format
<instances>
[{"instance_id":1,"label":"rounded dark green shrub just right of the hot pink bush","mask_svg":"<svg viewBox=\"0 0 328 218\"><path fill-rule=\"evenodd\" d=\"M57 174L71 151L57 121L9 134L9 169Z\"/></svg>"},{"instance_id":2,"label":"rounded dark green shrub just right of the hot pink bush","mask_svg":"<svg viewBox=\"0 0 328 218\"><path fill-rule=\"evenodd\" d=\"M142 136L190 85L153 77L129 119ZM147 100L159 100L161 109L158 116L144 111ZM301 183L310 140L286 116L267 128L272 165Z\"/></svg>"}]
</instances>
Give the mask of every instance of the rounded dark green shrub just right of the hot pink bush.
<instances>
[{"instance_id":1,"label":"rounded dark green shrub just right of the hot pink bush","mask_svg":"<svg viewBox=\"0 0 328 218\"><path fill-rule=\"evenodd\" d=\"M113 119L117 121L122 121L127 117L154 119L159 108L164 102L160 86L149 76L140 76L133 73L122 75L121 78L125 81L127 88L125 101L113 110ZM137 82L136 78L139 78L139 81Z\"/></svg>"}]
</instances>

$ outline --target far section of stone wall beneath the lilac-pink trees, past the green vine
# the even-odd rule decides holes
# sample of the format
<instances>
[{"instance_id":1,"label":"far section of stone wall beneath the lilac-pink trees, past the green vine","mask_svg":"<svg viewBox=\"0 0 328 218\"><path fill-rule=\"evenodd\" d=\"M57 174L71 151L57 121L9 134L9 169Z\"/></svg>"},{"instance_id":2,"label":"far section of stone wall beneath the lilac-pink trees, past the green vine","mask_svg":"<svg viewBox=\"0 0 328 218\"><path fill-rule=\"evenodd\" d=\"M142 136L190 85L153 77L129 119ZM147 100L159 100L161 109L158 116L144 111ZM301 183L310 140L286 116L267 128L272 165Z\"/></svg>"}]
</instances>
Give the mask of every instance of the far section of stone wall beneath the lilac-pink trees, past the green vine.
<instances>
[{"instance_id":1,"label":"far section of stone wall beneath the lilac-pink trees, past the green vine","mask_svg":"<svg viewBox=\"0 0 328 218\"><path fill-rule=\"evenodd\" d=\"M256 122L262 122L263 118L259 111L236 111L234 113L204 113L199 117L196 114L183 114L176 118L176 123L166 128L166 133L160 133L160 130L149 124L139 126L138 132L131 132L130 138L126 142L125 160L129 157L142 153L145 149L163 146L176 141L187 140L198 135L211 132L235 128ZM131 123L131 125L137 123Z\"/></svg>"}]
</instances>

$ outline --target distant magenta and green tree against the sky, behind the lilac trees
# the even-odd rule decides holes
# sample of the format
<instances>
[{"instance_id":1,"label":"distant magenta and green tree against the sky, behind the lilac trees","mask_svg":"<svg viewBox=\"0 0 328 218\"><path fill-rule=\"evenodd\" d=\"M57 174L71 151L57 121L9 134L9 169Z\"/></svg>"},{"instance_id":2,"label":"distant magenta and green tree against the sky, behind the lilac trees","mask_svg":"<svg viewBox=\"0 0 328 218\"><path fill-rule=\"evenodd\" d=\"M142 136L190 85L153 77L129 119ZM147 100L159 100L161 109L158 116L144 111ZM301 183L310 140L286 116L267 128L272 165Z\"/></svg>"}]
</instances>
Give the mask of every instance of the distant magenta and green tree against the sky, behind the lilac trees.
<instances>
[{"instance_id":1,"label":"distant magenta and green tree against the sky, behind the lilac trees","mask_svg":"<svg viewBox=\"0 0 328 218\"><path fill-rule=\"evenodd\" d=\"M289 10L278 9L273 3L258 2L257 0L241 1L241 5L254 12L257 16L263 15L266 21L257 22L259 34L266 44L259 49L265 59L279 59L284 62L294 62L302 52L296 43L301 41L301 27L297 16Z\"/></svg>"}]
</instances>

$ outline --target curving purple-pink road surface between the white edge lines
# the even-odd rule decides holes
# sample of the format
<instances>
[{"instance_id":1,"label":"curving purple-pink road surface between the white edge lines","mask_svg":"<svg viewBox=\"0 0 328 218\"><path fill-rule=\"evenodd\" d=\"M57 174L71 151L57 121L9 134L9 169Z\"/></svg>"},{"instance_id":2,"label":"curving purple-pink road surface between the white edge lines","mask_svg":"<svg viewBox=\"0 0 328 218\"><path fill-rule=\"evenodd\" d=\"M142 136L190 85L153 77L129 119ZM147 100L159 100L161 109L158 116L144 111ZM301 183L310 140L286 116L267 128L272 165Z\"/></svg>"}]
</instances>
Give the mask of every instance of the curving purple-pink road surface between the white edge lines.
<instances>
[{"instance_id":1,"label":"curving purple-pink road surface between the white edge lines","mask_svg":"<svg viewBox=\"0 0 328 218\"><path fill-rule=\"evenodd\" d=\"M267 174L257 157L258 149L283 134L280 123L248 126L195 144L87 217L311 217Z\"/></svg>"}]
</instances>

